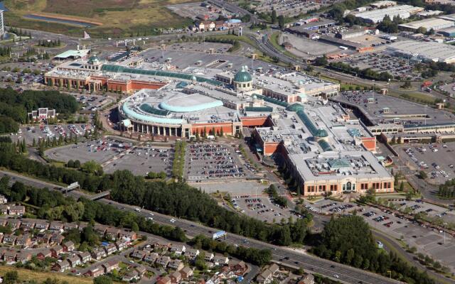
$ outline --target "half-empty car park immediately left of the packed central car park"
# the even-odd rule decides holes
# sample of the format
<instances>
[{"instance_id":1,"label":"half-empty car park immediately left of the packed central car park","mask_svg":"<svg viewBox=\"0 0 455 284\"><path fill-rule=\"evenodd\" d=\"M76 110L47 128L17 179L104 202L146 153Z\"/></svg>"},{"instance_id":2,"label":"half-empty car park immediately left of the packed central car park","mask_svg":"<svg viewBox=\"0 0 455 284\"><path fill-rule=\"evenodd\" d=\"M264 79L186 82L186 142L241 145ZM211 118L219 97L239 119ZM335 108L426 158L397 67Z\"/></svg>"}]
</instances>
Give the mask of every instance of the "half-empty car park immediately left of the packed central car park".
<instances>
[{"instance_id":1,"label":"half-empty car park immediately left of the packed central car park","mask_svg":"<svg viewBox=\"0 0 455 284\"><path fill-rule=\"evenodd\" d=\"M124 155L117 155L104 165L106 173L115 170L130 170L134 175L147 175L149 172L164 172L171 175L173 149L149 147L134 147Z\"/></svg>"}]
</instances>

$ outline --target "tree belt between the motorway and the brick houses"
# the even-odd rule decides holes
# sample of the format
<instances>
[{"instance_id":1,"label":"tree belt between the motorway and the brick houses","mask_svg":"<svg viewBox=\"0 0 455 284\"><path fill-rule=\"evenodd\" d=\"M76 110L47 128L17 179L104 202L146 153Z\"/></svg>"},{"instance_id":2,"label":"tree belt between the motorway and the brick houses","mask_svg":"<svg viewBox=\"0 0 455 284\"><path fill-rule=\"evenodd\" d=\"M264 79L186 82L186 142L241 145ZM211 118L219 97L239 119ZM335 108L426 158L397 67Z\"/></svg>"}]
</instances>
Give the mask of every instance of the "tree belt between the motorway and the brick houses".
<instances>
[{"instance_id":1,"label":"tree belt between the motorway and the brick houses","mask_svg":"<svg viewBox=\"0 0 455 284\"><path fill-rule=\"evenodd\" d=\"M49 221L60 220L63 222L89 222L82 231L77 229L65 233L65 240L73 241L80 245L82 251L90 250L91 246L100 243L99 236L93 230L94 222L108 226L117 226L131 229L132 231L144 231L149 234L162 236L173 241L188 241L185 232L179 227L156 224L134 212L125 212L110 204L87 200L81 197L74 200L65 197L61 192L51 191L48 188L36 188L15 182L9 187L9 177L0 179L0 193L12 202L24 202L37 207L36 217ZM197 248L208 251L228 253L232 256L250 263L262 266L269 263L272 258L271 251L267 249L248 249L244 246L232 246L218 241L213 241L205 236L196 236L188 242ZM81 247L82 246L82 247Z\"/></svg>"}]
</instances>

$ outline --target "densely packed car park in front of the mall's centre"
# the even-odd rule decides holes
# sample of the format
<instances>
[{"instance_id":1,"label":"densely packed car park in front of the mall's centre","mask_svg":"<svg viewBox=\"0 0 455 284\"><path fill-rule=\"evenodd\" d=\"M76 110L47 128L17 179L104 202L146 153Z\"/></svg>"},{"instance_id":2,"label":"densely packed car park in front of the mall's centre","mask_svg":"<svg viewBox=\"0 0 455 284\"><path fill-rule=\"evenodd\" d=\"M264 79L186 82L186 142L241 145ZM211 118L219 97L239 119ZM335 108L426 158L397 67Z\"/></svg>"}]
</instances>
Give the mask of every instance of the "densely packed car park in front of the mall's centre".
<instances>
[{"instance_id":1,"label":"densely packed car park in front of the mall's centre","mask_svg":"<svg viewBox=\"0 0 455 284\"><path fill-rule=\"evenodd\" d=\"M240 161L240 151L228 145L195 143L186 149L186 178L189 182L247 178L255 171Z\"/></svg>"}]
</instances>

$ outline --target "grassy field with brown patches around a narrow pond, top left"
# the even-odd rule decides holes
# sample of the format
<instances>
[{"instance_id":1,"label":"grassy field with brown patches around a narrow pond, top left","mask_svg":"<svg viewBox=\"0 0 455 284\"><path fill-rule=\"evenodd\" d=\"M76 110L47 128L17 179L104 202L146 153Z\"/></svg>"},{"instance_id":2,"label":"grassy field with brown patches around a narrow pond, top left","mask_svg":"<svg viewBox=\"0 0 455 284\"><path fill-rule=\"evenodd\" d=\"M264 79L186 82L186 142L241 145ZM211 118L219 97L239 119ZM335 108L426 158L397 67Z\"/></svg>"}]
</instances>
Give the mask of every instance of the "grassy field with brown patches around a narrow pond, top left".
<instances>
[{"instance_id":1,"label":"grassy field with brown patches around a narrow pond, top left","mask_svg":"<svg viewBox=\"0 0 455 284\"><path fill-rule=\"evenodd\" d=\"M151 35L155 28L183 27L191 19L182 18L166 8L167 5L193 0L5 0L6 25L32 28L67 35L82 36L86 30L95 37ZM95 21L100 26L84 28L23 18L31 13L42 16L61 16L75 21Z\"/></svg>"}]
</instances>

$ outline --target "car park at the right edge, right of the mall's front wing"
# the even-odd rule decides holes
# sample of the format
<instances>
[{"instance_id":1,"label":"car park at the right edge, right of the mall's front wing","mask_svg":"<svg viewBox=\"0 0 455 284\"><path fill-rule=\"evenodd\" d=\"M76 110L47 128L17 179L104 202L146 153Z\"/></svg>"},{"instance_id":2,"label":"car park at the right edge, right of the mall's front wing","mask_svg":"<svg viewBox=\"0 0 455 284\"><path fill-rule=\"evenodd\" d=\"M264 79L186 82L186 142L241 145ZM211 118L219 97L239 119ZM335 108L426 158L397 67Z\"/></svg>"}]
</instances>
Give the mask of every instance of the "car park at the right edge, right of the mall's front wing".
<instances>
[{"instance_id":1,"label":"car park at the right edge, right of the mall's front wing","mask_svg":"<svg viewBox=\"0 0 455 284\"><path fill-rule=\"evenodd\" d=\"M424 170L432 183L441 184L455 176L455 143L429 143L402 148L402 158L416 170Z\"/></svg>"}]
</instances>

